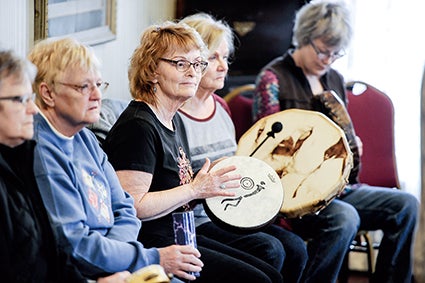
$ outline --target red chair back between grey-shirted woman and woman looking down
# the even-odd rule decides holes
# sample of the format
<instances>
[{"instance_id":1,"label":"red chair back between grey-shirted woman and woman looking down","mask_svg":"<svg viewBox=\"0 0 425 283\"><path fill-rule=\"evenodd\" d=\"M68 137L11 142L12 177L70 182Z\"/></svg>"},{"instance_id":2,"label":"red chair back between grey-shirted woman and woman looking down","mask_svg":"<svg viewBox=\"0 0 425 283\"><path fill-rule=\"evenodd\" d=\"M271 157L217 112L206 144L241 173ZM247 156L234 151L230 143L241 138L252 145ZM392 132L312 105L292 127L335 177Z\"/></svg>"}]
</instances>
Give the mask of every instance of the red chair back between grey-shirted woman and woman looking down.
<instances>
[{"instance_id":1,"label":"red chair back between grey-shirted woman and woman looking down","mask_svg":"<svg viewBox=\"0 0 425 283\"><path fill-rule=\"evenodd\" d=\"M255 84L245 84L233 88L224 96L235 125L236 141L253 125L252 94L254 90Z\"/></svg>"}]
</instances>

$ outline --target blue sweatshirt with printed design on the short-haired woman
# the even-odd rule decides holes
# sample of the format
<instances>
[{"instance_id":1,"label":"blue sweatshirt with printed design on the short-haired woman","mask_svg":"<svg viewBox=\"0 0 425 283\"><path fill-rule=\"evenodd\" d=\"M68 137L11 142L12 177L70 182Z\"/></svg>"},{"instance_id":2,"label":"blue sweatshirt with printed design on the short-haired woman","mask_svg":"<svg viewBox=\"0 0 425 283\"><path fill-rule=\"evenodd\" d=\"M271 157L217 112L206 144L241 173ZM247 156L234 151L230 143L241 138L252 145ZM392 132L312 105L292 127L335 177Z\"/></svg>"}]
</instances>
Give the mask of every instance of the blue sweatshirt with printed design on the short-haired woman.
<instances>
[{"instance_id":1,"label":"blue sweatshirt with printed design on the short-haired woman","mask_svg":"<svg viewBox=\"0 0 425 283\"><path fill-rule=\"evenodd\" d=\"M34 128L41 196L80 271L96 278L159 264L158 250L137 241L141 222L133 198L122 189L94 134L84 128L66 137L41 114L35 116Z\"/></svg>"}]
</instances>

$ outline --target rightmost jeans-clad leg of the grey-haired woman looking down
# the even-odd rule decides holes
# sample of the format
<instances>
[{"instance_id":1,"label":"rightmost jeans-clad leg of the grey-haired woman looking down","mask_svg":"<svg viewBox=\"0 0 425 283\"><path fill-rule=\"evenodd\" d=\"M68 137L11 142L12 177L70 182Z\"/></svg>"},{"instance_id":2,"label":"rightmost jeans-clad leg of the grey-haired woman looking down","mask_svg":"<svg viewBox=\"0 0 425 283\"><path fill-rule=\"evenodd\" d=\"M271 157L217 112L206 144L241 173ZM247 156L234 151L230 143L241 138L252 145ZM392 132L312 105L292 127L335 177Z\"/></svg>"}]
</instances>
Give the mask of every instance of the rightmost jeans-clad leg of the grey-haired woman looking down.
<instances>
[{"instance_id":1,"label":"rightmost jeans-clad leg of the grey-haired woman looking down","mask_svg":"<svg viewBox=\"0 0 425 283\"><path fill-rule=\"evenodd\" d=\"M411 282L419 202L399 189L361 185L342 200L360 216L360 229L382 230L373 282Z\"/></svg>"}]
</instances>

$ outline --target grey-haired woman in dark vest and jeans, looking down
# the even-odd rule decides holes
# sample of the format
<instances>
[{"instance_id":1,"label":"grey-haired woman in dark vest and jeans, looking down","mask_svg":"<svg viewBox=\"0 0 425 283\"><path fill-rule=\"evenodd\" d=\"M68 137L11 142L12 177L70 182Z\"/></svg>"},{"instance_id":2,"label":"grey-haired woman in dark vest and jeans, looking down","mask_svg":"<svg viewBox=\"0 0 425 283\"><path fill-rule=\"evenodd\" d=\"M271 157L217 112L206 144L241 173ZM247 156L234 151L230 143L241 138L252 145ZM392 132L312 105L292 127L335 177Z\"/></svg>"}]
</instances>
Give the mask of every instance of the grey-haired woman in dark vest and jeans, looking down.
<instances>
[{"instance_id":1,"label":"grey-haired woman in dark vest and jeans, looking down","mask_svg":"<svg viewBox=\"0 0 425 283\"><path fill-rule=\"evenodd\" d=\"M334 91L345 102L344 80L332 63L345 54L351 36L343 1L311 1L302 7L293 29L295 48L266 65L257 77L254 120L291 108L329 113L332 109L316 99L324 91ZM352 149L361 152L358 138L346 135ZM293 231L309 240L301 281L335 282L358 229L381 229L384 236L373 282L410 282L417 212L413 195L357 184L355 177L350 178L344 193L319 214L291 219Z\"/></svg>"}]
</instances>

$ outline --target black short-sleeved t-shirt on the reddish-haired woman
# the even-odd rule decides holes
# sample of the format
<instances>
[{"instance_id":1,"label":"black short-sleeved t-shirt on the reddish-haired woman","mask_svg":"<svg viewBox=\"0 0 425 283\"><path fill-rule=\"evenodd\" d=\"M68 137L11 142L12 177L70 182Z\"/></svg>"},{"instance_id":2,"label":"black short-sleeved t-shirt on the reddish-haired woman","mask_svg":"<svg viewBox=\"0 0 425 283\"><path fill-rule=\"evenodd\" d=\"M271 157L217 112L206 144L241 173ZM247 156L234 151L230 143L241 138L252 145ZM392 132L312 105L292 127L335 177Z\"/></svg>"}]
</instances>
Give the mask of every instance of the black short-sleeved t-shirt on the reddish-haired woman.
<instances>
[{"instance_id":1,"label":"black short-sleeved t-shirt on the reddish-haired woman","mask_svg":"<svg viewBox=\"0 0 425 283\"><path fill-rule=\"evenodd\" d=\"M149 191L162 191L191 181L186 132L178 115L174 131L165 127L144 102L132 101L110 130L104 150L116 171L153 174ZM174 244L171 213L144 221L139 239L147 247Z\"/></svg>"}]
</instances>

